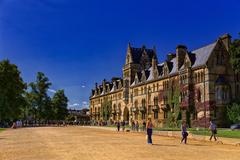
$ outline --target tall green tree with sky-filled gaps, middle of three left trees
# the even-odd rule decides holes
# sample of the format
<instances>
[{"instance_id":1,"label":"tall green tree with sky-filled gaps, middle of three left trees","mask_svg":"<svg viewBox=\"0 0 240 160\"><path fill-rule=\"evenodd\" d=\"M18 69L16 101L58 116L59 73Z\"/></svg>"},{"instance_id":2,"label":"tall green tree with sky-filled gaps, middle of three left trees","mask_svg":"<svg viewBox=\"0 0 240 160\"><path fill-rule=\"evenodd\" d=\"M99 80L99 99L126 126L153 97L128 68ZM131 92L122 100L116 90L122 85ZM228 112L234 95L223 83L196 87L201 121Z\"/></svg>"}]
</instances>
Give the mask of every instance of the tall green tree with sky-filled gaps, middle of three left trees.
<instances>
[{"instance_id":1,"label":"tall green tree with sky-filled gaps, middle of three left trees","mask_svg":"<svg viewBox=\"0 0 240 160\"><path fill-rule=\"evenodd\" d=\"M52 117L51 98L47 95L47 90L51 84L42 72L37 73L36 82L29 84L28 100L35 120L49 120Z\"/></svg>"}]
</instances>

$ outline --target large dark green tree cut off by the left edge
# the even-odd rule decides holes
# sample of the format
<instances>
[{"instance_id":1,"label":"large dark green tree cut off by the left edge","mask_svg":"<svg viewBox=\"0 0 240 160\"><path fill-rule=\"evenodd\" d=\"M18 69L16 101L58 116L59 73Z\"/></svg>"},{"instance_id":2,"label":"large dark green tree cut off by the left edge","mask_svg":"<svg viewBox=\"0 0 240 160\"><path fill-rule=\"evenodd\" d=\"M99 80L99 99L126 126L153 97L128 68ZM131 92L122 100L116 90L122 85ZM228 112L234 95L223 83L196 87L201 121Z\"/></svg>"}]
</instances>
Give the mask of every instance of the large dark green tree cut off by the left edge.
<instances>
[{"instance_id":1,"label":"large dark green tree cut off by the left edge","mask_svg":"<svg viewBox=\"0 0 240 160\"><path fill-rule=\"evenodd\" d=\"M0 121L20 118L25 105L24 93L26 84L21 72L9 60L0 62Z\"/></svg>"}]
</instances>

